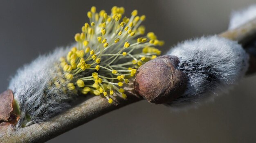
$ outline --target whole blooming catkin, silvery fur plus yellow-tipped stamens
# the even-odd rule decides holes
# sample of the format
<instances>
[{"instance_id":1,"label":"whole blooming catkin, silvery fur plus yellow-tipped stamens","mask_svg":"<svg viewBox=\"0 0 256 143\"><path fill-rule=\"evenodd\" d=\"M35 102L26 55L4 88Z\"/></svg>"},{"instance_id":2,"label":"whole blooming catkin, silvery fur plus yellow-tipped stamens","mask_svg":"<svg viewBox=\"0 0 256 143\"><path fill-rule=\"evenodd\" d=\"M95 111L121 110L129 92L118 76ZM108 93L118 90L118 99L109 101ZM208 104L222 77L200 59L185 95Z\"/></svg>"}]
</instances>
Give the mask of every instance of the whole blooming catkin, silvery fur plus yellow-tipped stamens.
<instances>
[{"instance_id":1,"label":"whole blooming catkin, silvery fur plus yellow-tipped stamens","mask_svg":"<svg viewBox=\"0 0 256 143\"><path fill-rule=\"evenodd\" d=\"M92 6L87 13L90 22L74 36L71 48L59 48L18 70L9 86L19 105L17 126L45 121L81 94L101 95L109 104L116 95L126 99L122 87L139 66L161 54L154 46L164 42L153 32L141 37L145 27L140 24L146 17L137 16L137 10L130 18L123 17L123 7L111 11L97 13Z\"/></svg>"}]
</instances>

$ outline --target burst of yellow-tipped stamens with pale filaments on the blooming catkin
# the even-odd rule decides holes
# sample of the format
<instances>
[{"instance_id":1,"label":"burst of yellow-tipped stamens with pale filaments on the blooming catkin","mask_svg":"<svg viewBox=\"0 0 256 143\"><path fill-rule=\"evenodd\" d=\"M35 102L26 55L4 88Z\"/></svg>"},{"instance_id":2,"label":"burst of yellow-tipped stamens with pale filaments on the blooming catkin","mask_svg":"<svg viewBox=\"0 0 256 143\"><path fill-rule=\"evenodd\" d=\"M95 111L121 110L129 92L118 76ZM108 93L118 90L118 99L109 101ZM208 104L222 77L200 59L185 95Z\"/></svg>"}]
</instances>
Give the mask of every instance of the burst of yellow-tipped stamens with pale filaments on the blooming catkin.
<instances>
[{"instance_id":1,"label":"burst of yellow-tipped stamens with pale filaments on the blooming catkin","mask_svg":"<svg viewBox=\"0 0 256 143\"><path fill-rule=\"evenodd\" d=\"M114 6L107 14L92 6L87 13L90 22L74 36L76 46L60 58L68 91L102 95L110 104L116 95L127 98L124 84L139 66L161 54L153 46L162 46L164 41L153 32L141 36L146 30L140 24L146 16L134 10L126 17L124 12L124 7Z\"/></svg>"}]
</instances>

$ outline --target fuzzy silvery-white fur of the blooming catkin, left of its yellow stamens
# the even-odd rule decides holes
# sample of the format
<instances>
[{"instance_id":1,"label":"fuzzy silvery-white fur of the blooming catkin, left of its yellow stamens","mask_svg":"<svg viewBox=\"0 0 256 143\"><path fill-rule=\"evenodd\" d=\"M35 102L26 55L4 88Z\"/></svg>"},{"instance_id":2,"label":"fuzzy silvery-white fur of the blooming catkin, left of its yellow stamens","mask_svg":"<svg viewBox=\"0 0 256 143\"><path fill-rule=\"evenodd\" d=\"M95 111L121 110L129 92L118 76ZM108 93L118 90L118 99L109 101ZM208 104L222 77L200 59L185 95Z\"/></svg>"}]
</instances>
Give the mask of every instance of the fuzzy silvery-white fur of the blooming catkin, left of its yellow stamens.
<instances>
[{"instance_id":1,"label":"fuzzy silvery-white fur of the blooming catkin, left of its yellow stamens","mask_svg":"<svg viewBox=\"0 0 256 143\"><path fill-rule=\"evenodd\" d=\"M16 76L11 79L9 89L13 91L21 111L17 126L23 124L27 115L31 121L41 122L70 106L69 102L75 96L63 93L61 88L45 90L49 87L52 76L58 74L54 62L65 56L68 49L58 48L51 54L39 56L29 65L18 69Z\"/></svg>"}]
</instances>

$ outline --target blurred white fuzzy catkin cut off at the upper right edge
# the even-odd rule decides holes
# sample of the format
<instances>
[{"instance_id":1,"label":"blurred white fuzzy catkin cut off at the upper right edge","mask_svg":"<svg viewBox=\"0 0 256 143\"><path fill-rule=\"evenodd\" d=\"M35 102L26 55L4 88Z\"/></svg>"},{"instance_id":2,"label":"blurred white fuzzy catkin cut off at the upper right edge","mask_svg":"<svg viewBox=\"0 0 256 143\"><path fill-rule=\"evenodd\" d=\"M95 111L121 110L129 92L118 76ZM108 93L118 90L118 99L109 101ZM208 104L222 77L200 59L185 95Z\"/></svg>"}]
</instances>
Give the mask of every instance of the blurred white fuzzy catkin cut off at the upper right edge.
<instances>
[{"instance_id":1,"label":"blurred white fuzzy catkin cut off at the upper right edge","mask_svg":"<svg viewBox=\"0 0 256 143\"><path fill-rule=\"evenodd\" d=\"M256 5L247 7L246 9L235 11L231 14L229 29L235 29L239 26L256 18Z\"/></svg>"}]
</instances>

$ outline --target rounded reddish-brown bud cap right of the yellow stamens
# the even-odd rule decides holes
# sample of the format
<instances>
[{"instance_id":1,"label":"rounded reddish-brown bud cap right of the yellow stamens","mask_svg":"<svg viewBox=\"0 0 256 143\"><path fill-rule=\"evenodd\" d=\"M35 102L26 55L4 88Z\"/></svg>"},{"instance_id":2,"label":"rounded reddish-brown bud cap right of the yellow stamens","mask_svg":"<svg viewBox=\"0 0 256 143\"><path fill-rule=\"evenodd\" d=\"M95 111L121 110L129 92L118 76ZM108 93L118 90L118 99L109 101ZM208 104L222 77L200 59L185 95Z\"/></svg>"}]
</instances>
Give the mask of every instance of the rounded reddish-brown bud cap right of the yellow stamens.
<instances>
[{"instance_id":1,"label":"rounded reddish-brown bud cap right of the yellow stamens","mask_svg":"<svg viewBox=\"0 0 256 143\"><path fill-rule=\"evenodd\" d=\"M176 69L177 56L159 56L137 70L134 88L137 94L155 104L169 103L184 93L187 76Z\"/></svg>"}]
</instances>

